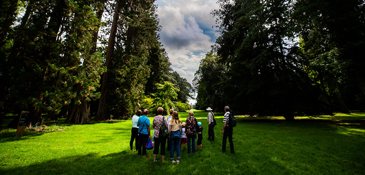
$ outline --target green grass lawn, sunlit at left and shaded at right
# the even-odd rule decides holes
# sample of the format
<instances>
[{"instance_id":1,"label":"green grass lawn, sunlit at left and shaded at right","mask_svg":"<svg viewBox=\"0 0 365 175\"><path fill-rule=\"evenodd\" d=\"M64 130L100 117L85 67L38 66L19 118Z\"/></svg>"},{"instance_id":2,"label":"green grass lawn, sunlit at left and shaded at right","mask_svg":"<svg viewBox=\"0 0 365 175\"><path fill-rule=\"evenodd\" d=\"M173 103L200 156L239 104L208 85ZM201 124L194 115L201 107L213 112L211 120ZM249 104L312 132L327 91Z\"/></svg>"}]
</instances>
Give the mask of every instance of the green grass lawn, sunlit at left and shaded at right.
<instances>
[{"instance_id":1,"label":"green grass lawn, sunlit at left and shaded at right","mask_svg":"<svg viewBox=\"0 0 365 175\"><path fill-rule=\"evenodd\" d=\"M365 174L365 113L333 116L236 116L235 154L221 150L223 113L215 113L215 141L207 140L206 114L195 111L203 123L203 148L181 151L180 164L152 162L152 150L137 156L129 150L131 120L90 125L46 123L63 131L15 129L0 131L0 174ZM179 113L180 119L187 112ZM148 116L151 120L153 116ZM175 153L176 156L176 153Z\"/></svg>"}]
</instances>

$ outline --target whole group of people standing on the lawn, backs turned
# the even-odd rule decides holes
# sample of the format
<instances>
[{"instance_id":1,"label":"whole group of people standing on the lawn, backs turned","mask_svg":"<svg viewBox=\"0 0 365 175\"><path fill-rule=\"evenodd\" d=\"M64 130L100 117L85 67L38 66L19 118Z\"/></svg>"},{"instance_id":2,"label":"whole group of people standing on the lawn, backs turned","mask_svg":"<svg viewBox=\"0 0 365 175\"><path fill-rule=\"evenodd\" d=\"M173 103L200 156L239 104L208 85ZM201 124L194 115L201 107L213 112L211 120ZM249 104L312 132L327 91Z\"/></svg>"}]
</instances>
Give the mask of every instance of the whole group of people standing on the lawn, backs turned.
<instances>
[{"instance_id":1,"label":"whole group of people standing on the lawn, backs turned","mask_svg":"<svg viewBox=\"0 0 365 175\"><path fill-rule=\"evenodd\" d=\"M216 125L214 113L212 109L208 107L206 109L207 122L208 122L208 140L214 141L214 126ZM224 107L224 118L223 118L223 141L222 141L222 152L225 152L226 139L228 137L230 152L234 153L232 133L233 128L229 127L229 107ZM194 112L190 110L188 112L189 117L186 122L182 122L179 119L178 112L173 109L169 110L169 115L167 117L162 115L163 108L157 108L157 116L153 118L153 162L156 162L156 156L160 151L162 162L165 160L165 144L167 140L167 151L170 152L171 163L180 162L180 147L183 145L183 150L185 150L185 143L187 143L187 153L194 153L200 146L202 149L202 130L203 126L201 122L197 122L196 118L193 116ZM150 138L150 120L147 118L148 110L144 109L137 110L135 115L132 117L132 130L130 138L130 150L133 150L133 141L135 142L135 148L138 151L138 155L146 154L146 143L148 138ZM165 135L163 128L167 128L168 134ZM195 147L195 139L197 136L197 144ZM176 161L174 160L174 152L176 151Z\"/></svg>"}]
</instances>

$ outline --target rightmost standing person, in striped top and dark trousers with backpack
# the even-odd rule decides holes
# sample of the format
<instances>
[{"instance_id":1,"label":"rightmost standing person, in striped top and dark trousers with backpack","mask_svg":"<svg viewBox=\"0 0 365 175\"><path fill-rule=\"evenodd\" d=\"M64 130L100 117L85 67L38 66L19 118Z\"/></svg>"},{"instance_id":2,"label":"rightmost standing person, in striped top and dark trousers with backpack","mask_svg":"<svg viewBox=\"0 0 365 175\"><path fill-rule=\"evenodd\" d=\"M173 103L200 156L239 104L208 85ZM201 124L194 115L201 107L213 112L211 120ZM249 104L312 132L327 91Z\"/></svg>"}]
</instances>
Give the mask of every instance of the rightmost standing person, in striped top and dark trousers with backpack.
<instances>
[{"instance_id":1,"label":"rightmost standing person, in striped top and dark trousers with backpack","mask_svg":"<svg viewBox=\"0 0 365 175\"><path fill-rule=\"evenodd\" d=\"M225 145L227 142L227 137L229 141L229 147L230 147L230 153L234 153L234 146L233 146L233 127L235 126L235 123L232 123L232 114L229 112L229 106L224 107L224 118L223 118L223 141L222 141L222 152L225 152Z\"/></svg>"}]
</instances>

